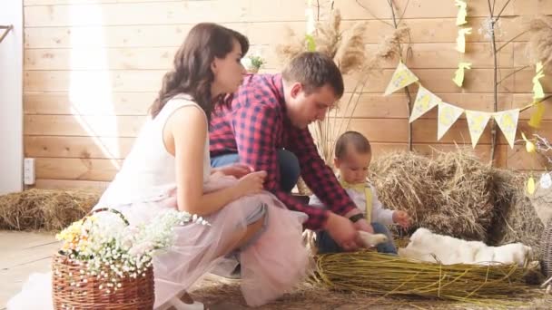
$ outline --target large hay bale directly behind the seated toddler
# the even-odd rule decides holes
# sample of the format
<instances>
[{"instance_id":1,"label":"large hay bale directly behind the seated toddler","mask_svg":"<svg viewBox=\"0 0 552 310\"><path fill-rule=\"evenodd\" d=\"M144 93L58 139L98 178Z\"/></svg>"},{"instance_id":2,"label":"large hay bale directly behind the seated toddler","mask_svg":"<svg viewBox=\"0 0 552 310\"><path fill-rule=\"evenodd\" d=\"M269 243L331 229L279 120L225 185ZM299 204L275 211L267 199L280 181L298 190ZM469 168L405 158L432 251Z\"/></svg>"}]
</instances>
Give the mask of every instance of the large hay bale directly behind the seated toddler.
<instances>
[{"instance_id":1,"label":"large hay bale directly behind the seated toddler","mask_svg":"<svg viewBox=\"0 0 552 310\"><path fill-rule=\"evenodd\" d=\"M490 167L473 151L439 152L428 159L394 152L370 166L381 202L409 212L413 228L486 240L493 214Z\"/></svg>"}]
</instances>

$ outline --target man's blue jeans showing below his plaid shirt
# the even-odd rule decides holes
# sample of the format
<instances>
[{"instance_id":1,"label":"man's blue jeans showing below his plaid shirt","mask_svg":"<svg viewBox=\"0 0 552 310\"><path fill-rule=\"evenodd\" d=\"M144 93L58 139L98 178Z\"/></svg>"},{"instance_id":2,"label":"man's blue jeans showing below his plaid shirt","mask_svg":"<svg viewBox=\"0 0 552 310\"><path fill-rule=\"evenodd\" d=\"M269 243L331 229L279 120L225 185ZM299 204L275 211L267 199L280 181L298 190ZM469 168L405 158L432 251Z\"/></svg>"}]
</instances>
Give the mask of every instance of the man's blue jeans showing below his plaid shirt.
<instances>
[{"instance_id":1,"label":"man's blue jeans showing below his plaid shirt","mask_svg":"<svg viewBox=\"0 0 552 310\"><path fill-rule=\"evenodd\" d=\"M236 162L240 162L240 156L237 153L224 154L211 158L212 167L222 167ZM297 184L297 180L301 175L299 160L291 151L282 149L278 150L278 164L280 165L281 189L291 192L291 189Z\"/></svg>"}]
</instances>

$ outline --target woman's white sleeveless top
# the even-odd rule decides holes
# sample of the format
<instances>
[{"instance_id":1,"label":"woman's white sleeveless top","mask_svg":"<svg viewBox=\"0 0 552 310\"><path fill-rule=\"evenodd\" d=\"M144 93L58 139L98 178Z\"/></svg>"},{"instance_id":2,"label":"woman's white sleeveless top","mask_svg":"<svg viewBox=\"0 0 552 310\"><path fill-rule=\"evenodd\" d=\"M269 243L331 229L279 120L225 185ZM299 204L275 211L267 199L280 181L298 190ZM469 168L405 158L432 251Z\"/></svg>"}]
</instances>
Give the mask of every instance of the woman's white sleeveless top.
<instances>
[{"instance_id":1,"label":"woman's white sleeveless top","mask_svg":"<svg viewBox=\"0 0 552 310\"><path fill-rule=\"evenodd\" d=\"M165 149L163 128L173 112L185 106L194 106L203 111L188 95L179 94L167 102L154 119L146 121L123 167L96 207L159 200L176 188L176 163L174 156ZM205 137L202 165L205 182L211 174L209 133Z\"/></svg>"}]
</instances>

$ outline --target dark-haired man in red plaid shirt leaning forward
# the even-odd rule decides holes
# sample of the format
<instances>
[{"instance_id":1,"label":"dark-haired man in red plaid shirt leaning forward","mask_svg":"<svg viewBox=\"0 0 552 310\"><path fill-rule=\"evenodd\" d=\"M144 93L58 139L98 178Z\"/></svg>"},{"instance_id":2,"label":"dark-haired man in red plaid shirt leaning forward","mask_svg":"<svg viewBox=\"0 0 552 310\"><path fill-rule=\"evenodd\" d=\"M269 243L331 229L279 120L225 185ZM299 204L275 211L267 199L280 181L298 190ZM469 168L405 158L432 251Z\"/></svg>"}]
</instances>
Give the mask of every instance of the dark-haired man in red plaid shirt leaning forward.
<instances>
[{"instance_id":1,"label":"dark-haired man in red plaid shirt leaning forward","mask_svg":"<svg viewBox=\"0 0 552 310\"><path fill-rule=\"evenodd\" d=\"M341 247L354 250L361 246L358 230L373 230L320 158L307 128L323 120L343 92L339 68L322 53L301 53L281 74L248 75L232 107L214 112L210 150L213 167L237 162L266 170L265 189L306 213L306 228L328 230ZM300 173L329 210L291 197Z\"/></svg>"}]
</instances>

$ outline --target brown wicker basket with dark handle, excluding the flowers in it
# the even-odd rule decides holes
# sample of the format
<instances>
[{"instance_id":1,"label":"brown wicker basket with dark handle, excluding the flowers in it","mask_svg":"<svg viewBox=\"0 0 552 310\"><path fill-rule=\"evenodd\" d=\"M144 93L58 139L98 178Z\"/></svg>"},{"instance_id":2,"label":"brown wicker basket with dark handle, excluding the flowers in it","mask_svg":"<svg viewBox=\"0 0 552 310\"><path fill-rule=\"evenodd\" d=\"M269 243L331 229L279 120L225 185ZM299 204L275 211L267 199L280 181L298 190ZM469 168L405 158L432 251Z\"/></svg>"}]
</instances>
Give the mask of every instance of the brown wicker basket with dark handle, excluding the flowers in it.
<instances>
[{"instance_id":1,"label":"brown wicker basket with dark handle, excluding the flowers in it","mask_svg":"<svg viewBox=\"0 0 552 310\"><path fill-rule=\"evenodd\" d=\"M93 213L104 210L106 209L94 210ZM122 214L119 215L123 217ZM126 219L123 220L128 224ZM136 278L121 278L121 286L117 289L111 287L111 290L110 287L100 288L104 281L96 276L88 276L84 268L84 265L78 265L62 254L54 256L52 295L55 310L153 309L153 266Z\"/></svg>"}]
</instances>

